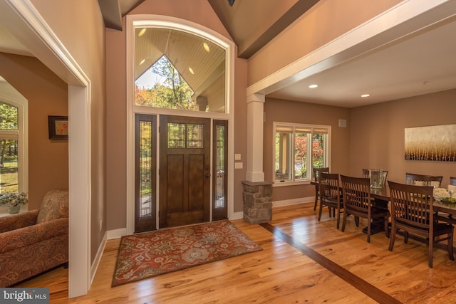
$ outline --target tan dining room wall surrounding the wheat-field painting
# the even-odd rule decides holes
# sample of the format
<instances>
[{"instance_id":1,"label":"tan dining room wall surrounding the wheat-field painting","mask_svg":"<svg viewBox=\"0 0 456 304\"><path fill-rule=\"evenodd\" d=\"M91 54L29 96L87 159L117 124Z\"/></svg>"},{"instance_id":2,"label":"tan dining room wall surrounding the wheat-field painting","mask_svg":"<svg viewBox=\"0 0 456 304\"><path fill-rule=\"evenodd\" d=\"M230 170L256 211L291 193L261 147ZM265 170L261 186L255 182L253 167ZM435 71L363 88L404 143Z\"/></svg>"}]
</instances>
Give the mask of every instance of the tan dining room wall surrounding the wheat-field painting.
<instances>
[{"instance_id":1,"label":"tan dining room wall surrounding the wheat-field painting","mask_svg":"<svg viewBox=\"0 0 456 304\"><path fill-rule=\"evenodd\" d=\"M351 110L350 174L362 168L388 170L388 179L405 182L405 172L442 175L442 186L456 176L456 162L404 159L406 127L456 124L456 90L393 100Z\"/></svg>"}]
</instances>

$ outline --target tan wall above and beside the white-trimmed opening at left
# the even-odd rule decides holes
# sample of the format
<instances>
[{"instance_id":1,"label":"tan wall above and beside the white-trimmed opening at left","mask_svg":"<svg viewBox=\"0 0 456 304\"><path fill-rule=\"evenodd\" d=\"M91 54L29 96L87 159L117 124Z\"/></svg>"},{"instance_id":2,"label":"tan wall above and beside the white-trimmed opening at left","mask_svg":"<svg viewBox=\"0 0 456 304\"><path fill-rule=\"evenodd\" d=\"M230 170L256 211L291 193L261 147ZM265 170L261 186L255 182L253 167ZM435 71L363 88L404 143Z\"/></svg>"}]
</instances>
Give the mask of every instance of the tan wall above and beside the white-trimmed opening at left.
<instances>
[{"instance_id":1,"label":"tan wall above and beside the white-trimmed opening at left","mask_svg":"<svg viewBox=\"0 0 456 304\"><path fill-rule=\"evenodd\" d=\"M95 0L31 0L31 2L90 79L92 165L90 231L93 261L105 234L106 225L105 24L98 1ZM101 229L100 221L103 222Z\"/></svg>"}]
</instances>

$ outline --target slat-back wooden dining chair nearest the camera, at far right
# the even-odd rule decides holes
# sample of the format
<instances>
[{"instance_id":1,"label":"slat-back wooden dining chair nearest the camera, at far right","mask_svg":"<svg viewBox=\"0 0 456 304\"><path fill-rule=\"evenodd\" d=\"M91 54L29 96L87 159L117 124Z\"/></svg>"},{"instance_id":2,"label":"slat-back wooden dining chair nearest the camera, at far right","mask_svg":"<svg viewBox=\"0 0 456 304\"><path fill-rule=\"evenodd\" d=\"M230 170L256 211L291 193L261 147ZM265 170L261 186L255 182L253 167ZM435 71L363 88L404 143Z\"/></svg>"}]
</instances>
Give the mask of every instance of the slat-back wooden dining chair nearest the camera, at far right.
<instances>
[{"instance_id":1,"label":"slat-back wooden dining chair nearest the camera, at far right","mask_svg":"<svg viewBox=\"0 0 456 304\"><path fill-rule=\"evenodd\" d=\"M451 261L453 256L453 226L438 223L434 219L433 187L398 184L388 181L391 201L391 236L389 250L393 251L396 232L405 232L404 243L408 234L423 237L428 244L429 267L432 268L433 244L447 240L447 250ZM444 236L445 237L441 237ZM438 237L438 238L437 238Z\"/></svg>"}]
</instances>

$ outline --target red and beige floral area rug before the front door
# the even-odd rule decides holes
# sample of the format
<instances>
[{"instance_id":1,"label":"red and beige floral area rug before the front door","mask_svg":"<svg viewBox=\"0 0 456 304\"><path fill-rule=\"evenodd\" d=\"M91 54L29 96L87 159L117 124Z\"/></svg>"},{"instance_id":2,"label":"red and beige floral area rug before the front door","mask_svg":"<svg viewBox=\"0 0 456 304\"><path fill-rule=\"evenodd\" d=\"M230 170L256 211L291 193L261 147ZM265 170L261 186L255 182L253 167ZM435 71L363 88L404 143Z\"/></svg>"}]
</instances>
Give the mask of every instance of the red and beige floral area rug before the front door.
<instances>
[{"instance_id":1,"label":"red and beige floral area rug before the front door","mask_svg":"<svg viewBox=\"0 0 456 304\"><path fill-rule=\"evenodd\" d=\"M112 285L261 250L227 220L123 236Z\"/></svg>"}]
</instances>

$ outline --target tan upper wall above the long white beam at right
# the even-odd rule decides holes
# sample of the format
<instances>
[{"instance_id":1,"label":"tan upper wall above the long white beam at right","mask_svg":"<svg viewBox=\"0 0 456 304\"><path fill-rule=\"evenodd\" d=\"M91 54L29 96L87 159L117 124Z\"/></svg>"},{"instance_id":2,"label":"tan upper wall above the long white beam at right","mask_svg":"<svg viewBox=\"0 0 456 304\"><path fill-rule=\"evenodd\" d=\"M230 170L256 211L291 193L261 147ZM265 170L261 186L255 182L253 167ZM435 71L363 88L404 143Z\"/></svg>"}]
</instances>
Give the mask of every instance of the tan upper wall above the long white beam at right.
<instances>
[{"instance_id":1,"label":"tan upper wall above the long white beam at right","mask_svg":"<svg viewBox=\"0 0 456 304\"><path fill-rule=\"evenodd\" d=\"M324 46L402 0L320 0L249 59L249 85Z\"/></svg>"}]
</instances>

